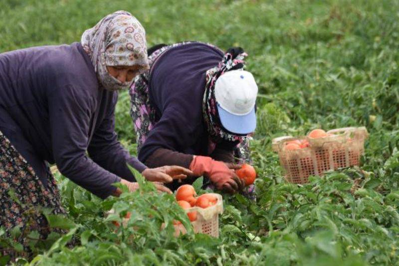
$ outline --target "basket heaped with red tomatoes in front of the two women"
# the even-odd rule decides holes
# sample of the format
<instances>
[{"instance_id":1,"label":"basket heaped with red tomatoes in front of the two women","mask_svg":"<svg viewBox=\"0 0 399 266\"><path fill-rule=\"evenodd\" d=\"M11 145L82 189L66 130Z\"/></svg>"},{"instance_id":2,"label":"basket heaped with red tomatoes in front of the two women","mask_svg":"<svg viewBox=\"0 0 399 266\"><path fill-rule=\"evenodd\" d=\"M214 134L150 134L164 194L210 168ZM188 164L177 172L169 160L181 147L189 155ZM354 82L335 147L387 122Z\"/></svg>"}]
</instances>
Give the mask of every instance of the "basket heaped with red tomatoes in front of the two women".
<instances>
[{"instance_id":1,"label":"basket heaped with red tomatoes in front of the two women","mask_svg":"<svg viewBox=\"0 0 399 266\"><path fill-rule=\"evenodd\" d=\"M195 233L219 237L219 214L223 212L223 199L220 194L206 193L197 197L191 185L183 185L176 191L178 204L186 211ZM176 235L185 234L186 229L175 222Z\"/></svg>"}]
</instances>

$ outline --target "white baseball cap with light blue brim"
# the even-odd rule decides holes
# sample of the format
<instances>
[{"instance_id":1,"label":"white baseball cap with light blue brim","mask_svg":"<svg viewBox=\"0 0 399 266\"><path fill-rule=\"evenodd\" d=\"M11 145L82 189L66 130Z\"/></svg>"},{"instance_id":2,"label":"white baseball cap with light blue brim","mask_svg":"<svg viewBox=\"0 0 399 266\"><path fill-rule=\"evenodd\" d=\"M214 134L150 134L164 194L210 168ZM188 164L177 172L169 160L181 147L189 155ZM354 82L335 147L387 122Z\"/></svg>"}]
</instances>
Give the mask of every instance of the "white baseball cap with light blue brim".
<instances>
[{"instance_id":1,"label":"white baseball cap with light blue brim","mask_svg":"<svg viewBox=\"0 0 399 266\"><path fill-rule=\"evenodd\" d=\"M258 86L252 74L245 70L231 70L215 82L215 98L222 126L236 134L255 131L255 101Z\"/></svg>"}]
</instances>

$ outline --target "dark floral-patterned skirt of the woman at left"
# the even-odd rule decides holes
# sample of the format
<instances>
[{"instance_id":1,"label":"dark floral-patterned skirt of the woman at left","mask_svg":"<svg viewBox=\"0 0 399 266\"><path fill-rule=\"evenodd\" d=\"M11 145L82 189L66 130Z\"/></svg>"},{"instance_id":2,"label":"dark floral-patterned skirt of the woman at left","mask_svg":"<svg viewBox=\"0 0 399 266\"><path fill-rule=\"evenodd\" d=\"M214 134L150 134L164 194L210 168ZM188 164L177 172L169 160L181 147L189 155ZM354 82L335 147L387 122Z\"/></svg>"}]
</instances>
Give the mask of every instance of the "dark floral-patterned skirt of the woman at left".
<instances>
[{"instance_id":1,"label":"dark floral-patterned skirt of the woman at left","mask_svg":"<svg viewBox=\"0 0 399 266\"><path fill-rule=\"evenodd\" d=\"M43 186L32 167L15 150L0 131L0 225L6 237L11 230L19 227L20 235L13 239L22 245L23 251L0 247L0 256L29 257L27 236L36 231L40 239L50 233L43 208L53 214L64 214L54 177L48 171L47 188Z\"/></svg>"}]
</instances>

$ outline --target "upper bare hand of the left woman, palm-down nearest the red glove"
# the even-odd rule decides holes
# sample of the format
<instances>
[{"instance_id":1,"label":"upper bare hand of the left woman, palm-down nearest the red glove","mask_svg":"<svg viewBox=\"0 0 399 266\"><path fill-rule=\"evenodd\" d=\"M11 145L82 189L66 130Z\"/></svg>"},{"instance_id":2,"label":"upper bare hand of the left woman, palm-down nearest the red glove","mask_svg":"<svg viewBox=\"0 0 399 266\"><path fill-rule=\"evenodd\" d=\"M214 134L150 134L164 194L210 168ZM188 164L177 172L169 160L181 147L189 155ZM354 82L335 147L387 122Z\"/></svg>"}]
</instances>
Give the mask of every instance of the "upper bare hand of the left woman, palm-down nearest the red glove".
<instances>
[{"instance_id":1,"label":"upper bare hand of the left woman, palm-down nearest the red glove","mask_svg":"<svg viewBox=\"0 0 399 266\"><path fill-rule=\"evenodd\" d=\"M141 173L148 181L171 183L175 179L185 179L193 172L181 166L162 166L157 168L147 168Z\"/></svg>"}]
</instances>

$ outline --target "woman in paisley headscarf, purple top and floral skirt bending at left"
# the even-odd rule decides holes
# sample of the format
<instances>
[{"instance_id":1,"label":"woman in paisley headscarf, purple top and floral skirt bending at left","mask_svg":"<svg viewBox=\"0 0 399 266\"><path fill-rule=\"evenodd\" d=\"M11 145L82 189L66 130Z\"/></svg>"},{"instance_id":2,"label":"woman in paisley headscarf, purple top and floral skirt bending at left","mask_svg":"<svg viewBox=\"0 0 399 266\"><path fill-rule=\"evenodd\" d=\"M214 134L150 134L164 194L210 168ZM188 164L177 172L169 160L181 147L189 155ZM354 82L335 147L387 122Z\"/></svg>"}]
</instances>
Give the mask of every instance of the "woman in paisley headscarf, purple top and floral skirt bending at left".
<instances>
[{"instance_id":1,"label":"woman in paisley headscarf, purple top and floral skirt bending at left","mask_svg":"<svg viewBox=\"0 0 399 266\"><path fill-rule=\"evenodd\" d=\"M127 164L149 181L191 174L177 166L149 169L117 140L118 90L148 68L145 30L125 11L101 19L81 42L0 54L2 227L25 228L29 221L45 236L39 207L64 213L48 163L101 198L118 196L117 182L137 189Z\"/></svg>"}]
</instances>

